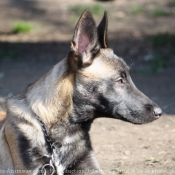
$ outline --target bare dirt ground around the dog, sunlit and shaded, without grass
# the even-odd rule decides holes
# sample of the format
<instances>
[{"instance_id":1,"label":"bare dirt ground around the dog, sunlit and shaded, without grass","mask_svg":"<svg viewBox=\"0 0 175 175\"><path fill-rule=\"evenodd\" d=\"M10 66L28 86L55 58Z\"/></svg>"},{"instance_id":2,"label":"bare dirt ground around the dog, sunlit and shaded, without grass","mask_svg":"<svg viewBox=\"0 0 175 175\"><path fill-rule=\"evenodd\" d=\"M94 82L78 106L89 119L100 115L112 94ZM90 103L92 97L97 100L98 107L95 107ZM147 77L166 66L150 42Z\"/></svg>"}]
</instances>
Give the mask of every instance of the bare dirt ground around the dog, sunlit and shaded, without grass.
<instances>
[{"instance_id":1,"label":"bare dirt ground around the dog, sunlit and shaded, without grass","mask_svg":"<svg viewBox=\"0 0 175 175\"><path fill-rule=\"evenodd\" d=\"M22 92L66 57L79 15L71 7L99 5L108 9L109 44L132 66L136 86L164 112L157 121L133 125L118 120L98 119L91 129L95 155L106 175L175 175L175 54L168 66L151 72L149 37L157 33L175 34L174 0L114 0L83 2L67 0L0 1L0 104L3 98ZM133 14L132 7L143 6L146 13ZM153 17L162 7L171 15ZM132 12L132 13L131 13ZM97 23L101 15L95 15ZM30 33L14 34L14 21L32 23ZM169 46L162 46L162 50Z\"/></svg>"}]
</instances>

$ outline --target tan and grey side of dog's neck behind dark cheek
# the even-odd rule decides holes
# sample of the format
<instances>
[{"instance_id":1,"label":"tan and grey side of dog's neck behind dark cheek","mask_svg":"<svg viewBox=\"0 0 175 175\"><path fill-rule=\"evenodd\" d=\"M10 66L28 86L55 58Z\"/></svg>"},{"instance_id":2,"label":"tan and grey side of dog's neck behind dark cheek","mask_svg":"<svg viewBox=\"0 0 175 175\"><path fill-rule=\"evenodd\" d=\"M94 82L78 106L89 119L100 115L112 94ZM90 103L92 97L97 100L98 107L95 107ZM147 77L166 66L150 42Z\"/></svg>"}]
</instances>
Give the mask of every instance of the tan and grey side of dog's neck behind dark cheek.
<instances>
[{"instance_id":1,"label":"tan and grey side of dog's neck behind dark cheek","mask_svg":"<svg viewBox=\"0 0 175 175\"><path fill-rule=\"evenodd\" d=\"M67 74L67 59L28 88L32 111L47 125L64 120L72 110L73 75Z\"/></svg>"}]
</instances>

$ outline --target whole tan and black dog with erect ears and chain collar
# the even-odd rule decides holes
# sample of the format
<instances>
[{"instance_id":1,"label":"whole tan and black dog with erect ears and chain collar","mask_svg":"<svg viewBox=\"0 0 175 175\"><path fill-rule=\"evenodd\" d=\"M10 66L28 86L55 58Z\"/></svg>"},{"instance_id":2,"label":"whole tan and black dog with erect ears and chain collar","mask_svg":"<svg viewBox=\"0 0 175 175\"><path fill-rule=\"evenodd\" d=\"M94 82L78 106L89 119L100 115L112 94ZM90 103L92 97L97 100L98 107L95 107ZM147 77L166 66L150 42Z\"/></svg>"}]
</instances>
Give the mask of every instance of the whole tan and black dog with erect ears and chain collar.
<instances>
[{"instance_id":1,"label":"whole tan and black dog with erect ears and chain collar","mask_svg":"<svg viewBox=\"0 0 175 175\"><path fill-rule=\"evenodd\" d=\"M2 174L102 175L89 137L93 120L106 116L144 124L161 116L108 47L107 26L106 11L97 27L86 10L67 57L7 100L0 130Z\"/></svg>"}]
</instances>

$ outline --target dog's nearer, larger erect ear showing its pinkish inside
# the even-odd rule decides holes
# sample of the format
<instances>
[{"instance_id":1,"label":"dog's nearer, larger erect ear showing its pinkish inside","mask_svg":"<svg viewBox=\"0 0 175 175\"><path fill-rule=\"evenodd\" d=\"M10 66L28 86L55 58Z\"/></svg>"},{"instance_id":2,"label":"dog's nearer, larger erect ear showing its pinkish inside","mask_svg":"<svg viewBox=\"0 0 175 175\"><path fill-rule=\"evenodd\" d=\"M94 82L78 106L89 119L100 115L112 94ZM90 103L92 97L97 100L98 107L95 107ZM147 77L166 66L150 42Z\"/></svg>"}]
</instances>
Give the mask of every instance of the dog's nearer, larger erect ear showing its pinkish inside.
<instances>
[{"instance_id":1,"label":"dog's nearer, larger erect ear showing its pinkish inside","mask_svg":"<svg viewBox=\"0 0 175 175\"><path fill-rule=\"evenodd\" d=\"M75 27L71 42L68 56L71 69L76 70L90 65L99 48L95 21L91 13L86 10Z\"/></svg>"}]
</instances>

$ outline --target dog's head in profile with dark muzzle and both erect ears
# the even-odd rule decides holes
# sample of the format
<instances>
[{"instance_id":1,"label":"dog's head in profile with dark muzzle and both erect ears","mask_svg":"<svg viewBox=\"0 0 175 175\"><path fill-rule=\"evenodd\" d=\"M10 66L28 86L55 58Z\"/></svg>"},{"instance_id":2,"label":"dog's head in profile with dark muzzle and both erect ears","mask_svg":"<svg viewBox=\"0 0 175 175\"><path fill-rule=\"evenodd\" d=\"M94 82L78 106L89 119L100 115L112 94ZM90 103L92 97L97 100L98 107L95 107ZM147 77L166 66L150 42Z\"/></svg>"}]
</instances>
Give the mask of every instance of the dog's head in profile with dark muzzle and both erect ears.
<instances>
[{"instance_id":1,"label":"dog's head in profile with dark muzzle and both erect ears","mask_svg":"<svg viewBox=\"0 0 175 175\"><path fill-rule=\"evenodd\" d=\"M106 115L142 124L161 116L161 109L135 87L123 59L108 48L106 12L98 28L89 11L82 14L71 42L68 65L75 78L76 122Z\"/></svg>"}]
</instances>

